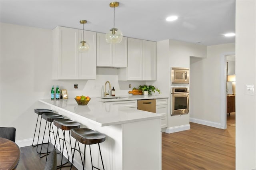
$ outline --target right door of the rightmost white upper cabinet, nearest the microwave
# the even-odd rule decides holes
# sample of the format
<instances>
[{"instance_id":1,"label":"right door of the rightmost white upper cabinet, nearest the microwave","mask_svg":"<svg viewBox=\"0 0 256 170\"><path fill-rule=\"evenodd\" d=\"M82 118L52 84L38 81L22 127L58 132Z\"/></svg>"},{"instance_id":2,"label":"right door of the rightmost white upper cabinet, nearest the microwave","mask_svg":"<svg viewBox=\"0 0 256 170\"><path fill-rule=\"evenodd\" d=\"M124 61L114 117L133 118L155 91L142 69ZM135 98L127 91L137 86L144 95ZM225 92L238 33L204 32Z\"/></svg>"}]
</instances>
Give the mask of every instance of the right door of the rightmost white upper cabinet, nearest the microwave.
<instances>
[{"instance_id":1,"label":"right door of the rightmost white upper cabinet, nearest the microwave","mask_svg":"<svg viewBox=\"0 0 256 170\"><path fill-rule=\"evenodd\" d=\"M156 42L143 40L143 80L156 80Z\"/></svg>"}]
</instances>

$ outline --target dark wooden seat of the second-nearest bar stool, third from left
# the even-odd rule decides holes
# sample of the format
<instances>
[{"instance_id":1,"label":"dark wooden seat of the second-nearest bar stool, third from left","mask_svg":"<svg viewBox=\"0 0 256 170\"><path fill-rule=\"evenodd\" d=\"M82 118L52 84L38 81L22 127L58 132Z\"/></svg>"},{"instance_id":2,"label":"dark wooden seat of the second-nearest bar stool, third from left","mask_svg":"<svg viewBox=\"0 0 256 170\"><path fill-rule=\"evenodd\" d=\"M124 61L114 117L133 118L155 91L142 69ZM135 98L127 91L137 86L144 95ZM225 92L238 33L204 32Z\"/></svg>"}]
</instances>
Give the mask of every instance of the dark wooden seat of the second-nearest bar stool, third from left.
<instances>
[{"instance_id":1,"label":"dark wooden seat of the second-nearest bar stool, third from left","mask_svg":"<svg viewBox=\"0 0 256 170\"><path fill-rule=\"evenodd\" d=\"M53 124L62 130L70 130L72 128L80 128L80 123L77 123L70 119L56 119L53 121Z\"/></svg>"}]
</instances>

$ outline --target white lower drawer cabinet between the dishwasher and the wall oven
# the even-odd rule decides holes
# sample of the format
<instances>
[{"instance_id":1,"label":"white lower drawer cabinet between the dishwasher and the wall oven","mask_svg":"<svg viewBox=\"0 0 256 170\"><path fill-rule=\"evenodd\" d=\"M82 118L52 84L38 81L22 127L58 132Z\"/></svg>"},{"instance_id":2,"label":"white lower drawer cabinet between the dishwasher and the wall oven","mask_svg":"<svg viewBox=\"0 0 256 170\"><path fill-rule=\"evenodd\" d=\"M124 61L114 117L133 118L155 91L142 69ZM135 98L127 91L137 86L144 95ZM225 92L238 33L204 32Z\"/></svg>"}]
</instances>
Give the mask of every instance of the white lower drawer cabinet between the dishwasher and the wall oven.
<instances>
[{"instance_id":1,"label":"white lower drawer cabinet between the dishwasher and the wall oven","mask_svg":"<svg viewBox=\"0 0 256 170\"><path fill-rule=\"evenodd\" d=\"M161 119L161 127L167 127L168 99L156 99L156 113L164 115Z\"/></svg>"}]
</instances>

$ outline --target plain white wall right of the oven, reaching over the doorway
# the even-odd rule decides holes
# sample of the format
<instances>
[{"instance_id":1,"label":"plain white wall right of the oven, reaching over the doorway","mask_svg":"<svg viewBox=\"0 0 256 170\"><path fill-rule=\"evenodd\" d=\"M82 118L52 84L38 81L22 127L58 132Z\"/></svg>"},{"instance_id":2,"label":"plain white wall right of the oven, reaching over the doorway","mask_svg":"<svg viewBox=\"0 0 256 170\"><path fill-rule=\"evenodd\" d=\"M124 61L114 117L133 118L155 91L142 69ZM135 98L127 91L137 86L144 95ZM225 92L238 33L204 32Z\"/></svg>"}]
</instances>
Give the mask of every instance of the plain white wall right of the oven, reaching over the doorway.
<instances>
[{"instance_id":1,"label":"plain white wall right of the oven, reaching over the doorway","mask_svg":"<svg viewBox=\"0 0 256 170\"><path fill-rule=\"evenodd\" d=\"M206 58L190 57L191 122L221 128L221 59L234 51L234 43L211 45Z\"/></svg>"}]
</instances>

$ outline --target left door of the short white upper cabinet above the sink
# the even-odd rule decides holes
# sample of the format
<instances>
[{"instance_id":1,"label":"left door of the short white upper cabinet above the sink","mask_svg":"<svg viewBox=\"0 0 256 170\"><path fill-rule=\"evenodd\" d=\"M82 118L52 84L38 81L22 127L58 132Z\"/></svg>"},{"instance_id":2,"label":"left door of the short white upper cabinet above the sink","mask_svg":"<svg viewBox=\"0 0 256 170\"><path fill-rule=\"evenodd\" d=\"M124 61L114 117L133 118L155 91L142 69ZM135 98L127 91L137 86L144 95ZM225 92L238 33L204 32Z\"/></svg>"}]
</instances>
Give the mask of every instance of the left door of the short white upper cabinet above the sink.
<instances>
[{"instance_id":1,"label":"left door of the short white upper cabinet above the sink","mask_svg":"<svg viewBox=\"0 0 256 170\"><path fill-rule=\"evenodd\" d=\"M112 67L112 45L105 40L105 34L97 32L97 66Z\"/></svg>"}]
</instances>

